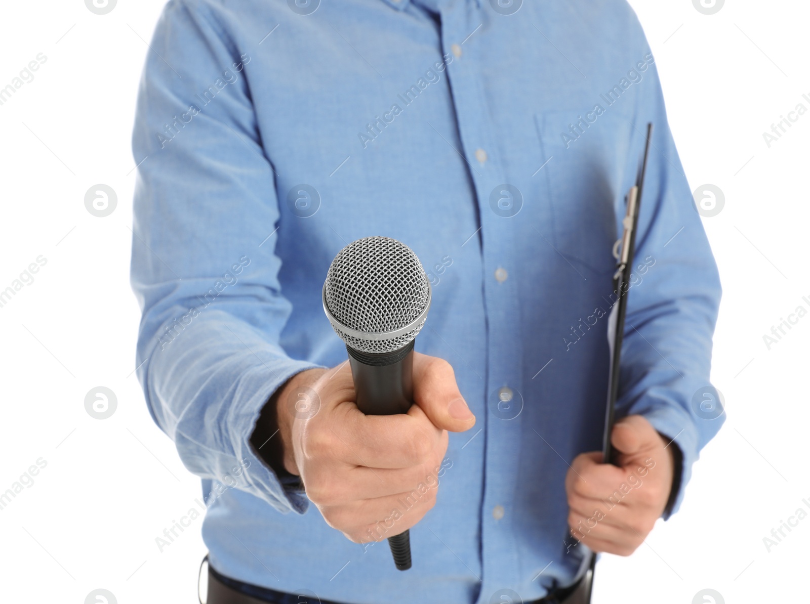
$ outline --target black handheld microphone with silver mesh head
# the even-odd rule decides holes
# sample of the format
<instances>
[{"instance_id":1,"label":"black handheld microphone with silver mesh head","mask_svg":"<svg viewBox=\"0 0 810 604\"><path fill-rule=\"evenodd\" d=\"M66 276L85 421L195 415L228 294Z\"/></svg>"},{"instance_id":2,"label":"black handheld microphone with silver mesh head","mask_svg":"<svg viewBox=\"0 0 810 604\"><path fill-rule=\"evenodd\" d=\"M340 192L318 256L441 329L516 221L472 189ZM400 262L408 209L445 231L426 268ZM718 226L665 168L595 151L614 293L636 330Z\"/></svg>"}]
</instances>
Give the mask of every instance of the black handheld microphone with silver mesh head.
<instances>
[{"instance_id":1,"label":"black handheld microphone with silver mesh head","mask_svg":"<svg viewBox=\"0 0 810 604\"><path fill-rule=\"evenodd\" d=\"M419 258L390 237L341 249L323 284L323 309L349 355L357 407L366 415L407 413L413 403L413 346L430 308ZM411 568L406 530L388 538L394 564Z\"/></svg>"}]
</instances>

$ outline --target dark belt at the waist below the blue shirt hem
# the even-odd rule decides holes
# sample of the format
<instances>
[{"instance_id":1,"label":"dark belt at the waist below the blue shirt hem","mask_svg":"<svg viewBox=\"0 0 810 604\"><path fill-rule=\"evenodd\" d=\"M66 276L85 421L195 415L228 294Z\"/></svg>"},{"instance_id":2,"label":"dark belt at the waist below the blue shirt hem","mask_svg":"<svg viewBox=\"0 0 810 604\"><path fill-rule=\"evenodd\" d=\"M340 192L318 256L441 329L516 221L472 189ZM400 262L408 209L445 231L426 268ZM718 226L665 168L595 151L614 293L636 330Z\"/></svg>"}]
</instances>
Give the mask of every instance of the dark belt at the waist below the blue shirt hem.
<instances>
[{"instance_id":1,"label":"dark belt at the waist below the blue shirt hem","mask_svg":"<svg viewBox=\"0 0 810 604\"><path fill-rule=\"evenodd\" d=\"M203 564L208 556L203 559ZM202 565L200 570L202 571ZM564 589L555 589L545 598L525 604L586 604L590 598L589 576ZM318 598L314 593L284 593L250 585L224 576L208 564L208 598L206 604L340 604ZM202 602L202 601L201 601ZM521 604L515 602L514 604Z\"/></svg>"}]
</instances>

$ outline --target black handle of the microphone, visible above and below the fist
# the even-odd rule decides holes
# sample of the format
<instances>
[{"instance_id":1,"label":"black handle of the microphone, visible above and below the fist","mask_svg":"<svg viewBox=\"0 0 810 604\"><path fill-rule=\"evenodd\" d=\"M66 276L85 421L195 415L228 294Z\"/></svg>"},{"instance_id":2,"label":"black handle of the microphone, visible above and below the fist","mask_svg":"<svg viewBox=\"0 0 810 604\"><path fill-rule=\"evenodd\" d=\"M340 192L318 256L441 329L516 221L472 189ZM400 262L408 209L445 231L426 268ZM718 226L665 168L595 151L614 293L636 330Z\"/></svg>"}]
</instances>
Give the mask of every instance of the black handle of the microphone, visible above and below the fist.
<instances>
[{"instance_id":1,"label":"black handle of the microphone, visible above and below the fist","mask_svg":"<svg viewBox=\"0 0 810 604\"><path fill-rule=\"evenodd\" d=\"M413 404L413 345L398 351L374 354L347 346L352 366L357 408L366 415L407 413ZM388 538L394 564L401 571L411 568L408 531Z\"/></svg>"}]
</instances>

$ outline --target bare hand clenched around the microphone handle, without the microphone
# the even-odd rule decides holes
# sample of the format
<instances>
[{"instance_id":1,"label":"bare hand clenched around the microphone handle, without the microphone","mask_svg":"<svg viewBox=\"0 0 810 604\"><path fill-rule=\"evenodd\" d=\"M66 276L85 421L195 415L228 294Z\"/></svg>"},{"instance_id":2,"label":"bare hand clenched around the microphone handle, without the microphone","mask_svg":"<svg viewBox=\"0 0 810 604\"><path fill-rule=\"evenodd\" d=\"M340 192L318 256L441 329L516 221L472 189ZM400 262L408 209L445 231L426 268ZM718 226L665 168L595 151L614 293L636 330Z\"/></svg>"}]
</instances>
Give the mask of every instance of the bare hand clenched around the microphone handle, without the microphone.
<instances>
[{"instance_id":1,"label":"bare hand clenched around the microphone handle, without the microphone","mask_svg":"<svg viewBox=\"0 0 810 604\"><path fill-rule=\"evenodd\" d=\"M436 504L447 431L475 425L443 359L414 353L413 398L407 414L364 415L344 363L301 372L271 399L276 463L301 476L326 523L353 542L381 541L416 525ZM308 412L296 412L299 399Z\"/></svg>"}]
</instances>

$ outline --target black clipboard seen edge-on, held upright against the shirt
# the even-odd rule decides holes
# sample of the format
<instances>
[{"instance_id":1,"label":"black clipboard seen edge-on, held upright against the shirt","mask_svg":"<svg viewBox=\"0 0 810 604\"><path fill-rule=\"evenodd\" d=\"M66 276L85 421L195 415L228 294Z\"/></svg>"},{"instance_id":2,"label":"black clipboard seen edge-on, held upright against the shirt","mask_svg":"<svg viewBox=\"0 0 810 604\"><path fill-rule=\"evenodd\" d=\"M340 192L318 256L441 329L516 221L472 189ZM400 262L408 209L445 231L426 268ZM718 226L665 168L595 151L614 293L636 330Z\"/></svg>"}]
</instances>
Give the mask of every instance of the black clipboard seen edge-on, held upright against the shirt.
<instances>
[{"instance_id":1,"label":"black clipboard seen edge-on, held upright against the shirt","mask_svg":"<svg viewBox=\"0 0 810 604\"><path fill-rule=\"evenodd\" d=\"M633 272L633 258L636 252L636 232L638 228L638 210L642 201L644 187L644 174L647 169L647 157L650 155L650 138L653 134L652 123L647 124L647 138L644 146L644 155L636 174L636 184L633 185L625 198L625 218L622 219L623 232L616 245L613 246L613 256L616 257L616 272L613 274L613 293L617 297L608 317L608 342L610 342L610 374L608 376L608 404L605 408L605 423L602 441L603 460L616 463L615 452L610 442L613 432L614 416L616 411L616 398L619 395L621 343L625 333L625 316L627 315L627 297L630 290L630 275ZM596 554L591 552L588 570L583 577L586 589L583 602L590 603L593 591L594 572L596 569ZM572 603L573 604L573 603Z\"/></svg>"}]
</instances>

